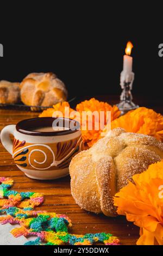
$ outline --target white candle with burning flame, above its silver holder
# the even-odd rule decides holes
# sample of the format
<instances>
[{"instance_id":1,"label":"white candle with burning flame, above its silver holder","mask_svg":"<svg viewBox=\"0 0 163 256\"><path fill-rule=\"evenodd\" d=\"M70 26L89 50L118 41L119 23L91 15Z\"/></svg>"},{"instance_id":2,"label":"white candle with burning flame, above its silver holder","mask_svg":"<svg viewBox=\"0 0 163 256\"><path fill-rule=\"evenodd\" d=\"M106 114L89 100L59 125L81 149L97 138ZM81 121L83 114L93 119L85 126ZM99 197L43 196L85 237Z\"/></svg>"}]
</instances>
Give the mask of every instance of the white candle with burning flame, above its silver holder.
<instances>
[{"instance_id":1,"label":"white candle with burning flame, above its silver holder","mask_svg":"<svg viewBox=\"0 0 163 256\"><path fill-rule=\"evenodd\" d=\"M121 86L123 86L124 82L131 82L133 79L133 57L130 56L131 49L133 48L133 44L131 42L127 43L125 49L125 55L123 56L123 70L121 72Z\"/></svg>"}]
</instances>

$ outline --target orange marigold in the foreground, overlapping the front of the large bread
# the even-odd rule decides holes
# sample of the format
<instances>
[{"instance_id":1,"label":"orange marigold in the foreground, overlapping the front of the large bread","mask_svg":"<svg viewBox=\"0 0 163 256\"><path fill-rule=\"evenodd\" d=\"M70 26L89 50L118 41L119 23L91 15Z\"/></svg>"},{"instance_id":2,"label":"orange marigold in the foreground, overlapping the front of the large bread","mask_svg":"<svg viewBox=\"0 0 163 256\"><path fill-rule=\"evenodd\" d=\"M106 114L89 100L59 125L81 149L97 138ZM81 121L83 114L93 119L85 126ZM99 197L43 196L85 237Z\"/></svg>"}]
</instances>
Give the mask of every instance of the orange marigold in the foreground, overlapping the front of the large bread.
<instances>
[{"instance_id":1,"label":"orange marigold in the foreground, overlapping the front of the large bread","mask_svg":"<svg viewBox=\"0 0 163 256\"><path fill-rule=\"evenodd\" d=\"M163 160L115 194L117 213L140 227L137 245L163 245Z\"/></svg>"}]
</instances>

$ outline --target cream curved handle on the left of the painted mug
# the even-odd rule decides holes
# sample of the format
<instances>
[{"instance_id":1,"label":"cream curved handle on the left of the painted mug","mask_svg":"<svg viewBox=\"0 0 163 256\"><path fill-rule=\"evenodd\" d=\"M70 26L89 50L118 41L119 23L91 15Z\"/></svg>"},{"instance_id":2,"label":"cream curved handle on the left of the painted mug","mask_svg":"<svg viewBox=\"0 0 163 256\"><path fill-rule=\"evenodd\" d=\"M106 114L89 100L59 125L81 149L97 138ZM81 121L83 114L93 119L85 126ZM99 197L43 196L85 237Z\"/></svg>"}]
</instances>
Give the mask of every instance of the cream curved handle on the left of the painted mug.
<instances>
[{"instance_id":1,"label":"cream curved handle on the left of the painted mug","mask_svg":"<svg viewBox=\"0 0 163 256\"><path fill-rule=\"evenodd\" d=\"M12 155L12 141L10 134L14 135L15 124L5 126L1 131L1 143L3 147Z\"/></svg>"}]
</instances>

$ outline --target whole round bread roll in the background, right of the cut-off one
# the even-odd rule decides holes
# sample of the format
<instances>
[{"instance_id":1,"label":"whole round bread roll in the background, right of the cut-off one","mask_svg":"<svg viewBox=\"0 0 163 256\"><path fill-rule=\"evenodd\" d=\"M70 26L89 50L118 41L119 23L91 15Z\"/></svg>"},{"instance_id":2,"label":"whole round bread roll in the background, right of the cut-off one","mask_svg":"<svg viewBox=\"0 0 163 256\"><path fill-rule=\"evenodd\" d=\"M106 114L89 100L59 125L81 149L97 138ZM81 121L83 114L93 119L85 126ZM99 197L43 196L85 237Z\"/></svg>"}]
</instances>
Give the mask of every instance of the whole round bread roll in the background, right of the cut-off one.
<instances>
[{"instance_id":1,"label":"whole round bread roll in the background, right of the cut-off one","mask_svg":"<svg viewBox=\"0 0 163 256\"><path fill-rule=\"evenodd\" d=\"M32 73L21 82L21 100L28 106L51 107L66 99L65 84L51 72Z\"/></svg>"}]
</instances>

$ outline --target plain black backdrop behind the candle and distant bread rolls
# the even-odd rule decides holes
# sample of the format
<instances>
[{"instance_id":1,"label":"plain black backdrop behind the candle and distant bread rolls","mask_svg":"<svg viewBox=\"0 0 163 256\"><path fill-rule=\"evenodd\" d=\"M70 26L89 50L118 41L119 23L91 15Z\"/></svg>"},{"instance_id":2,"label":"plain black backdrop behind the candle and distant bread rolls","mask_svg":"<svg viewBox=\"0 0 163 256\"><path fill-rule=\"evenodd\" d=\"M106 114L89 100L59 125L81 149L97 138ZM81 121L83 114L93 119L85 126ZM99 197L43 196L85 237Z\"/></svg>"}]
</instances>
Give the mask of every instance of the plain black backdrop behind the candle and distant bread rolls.
<instances>
[{"instance_id":1,"label":"plain black backdrop behind the candle and distant bread rolls","mask_svg":"<svg viewBox=\"0 0 163 256\"><path fill-rule=\"evenodd\" d=\"M37 2L36 8L33 2L20 3L17 13L10 3L8 15L1 10L1 80L21 81L29 72L52 71L65 82L70 97L120 94L123 54L130 40L133 94L162 97L159 6L149 13L148 6L137 12L131 3L122 10L117 2L112 10L105 1L52 2Z\"/></svg>"}]
</instances>

